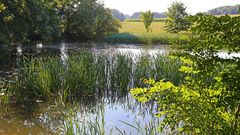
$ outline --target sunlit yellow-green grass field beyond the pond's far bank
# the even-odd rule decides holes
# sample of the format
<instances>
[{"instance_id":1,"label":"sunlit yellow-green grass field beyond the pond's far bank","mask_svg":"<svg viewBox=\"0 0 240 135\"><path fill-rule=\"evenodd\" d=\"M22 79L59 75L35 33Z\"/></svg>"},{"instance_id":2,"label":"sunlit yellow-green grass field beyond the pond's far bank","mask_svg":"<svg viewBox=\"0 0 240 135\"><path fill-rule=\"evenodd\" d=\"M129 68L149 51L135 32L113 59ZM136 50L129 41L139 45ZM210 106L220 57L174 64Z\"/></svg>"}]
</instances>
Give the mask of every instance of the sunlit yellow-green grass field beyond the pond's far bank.
<instances>
[{"instance_id":1,"label":"sunlit yellow-green grass field beyond the pond's far bank","mask_svg":"<svg viewBox=\"0 0 240 135\"><path fill-rule=\"evenodd\" d=\"M118 34L105 38L110 43L130 44L185 44L187 33L170 34L165 30L165 22L153 22L147 33L142 22L122 22Z\"/></svg>"}]
</instances>

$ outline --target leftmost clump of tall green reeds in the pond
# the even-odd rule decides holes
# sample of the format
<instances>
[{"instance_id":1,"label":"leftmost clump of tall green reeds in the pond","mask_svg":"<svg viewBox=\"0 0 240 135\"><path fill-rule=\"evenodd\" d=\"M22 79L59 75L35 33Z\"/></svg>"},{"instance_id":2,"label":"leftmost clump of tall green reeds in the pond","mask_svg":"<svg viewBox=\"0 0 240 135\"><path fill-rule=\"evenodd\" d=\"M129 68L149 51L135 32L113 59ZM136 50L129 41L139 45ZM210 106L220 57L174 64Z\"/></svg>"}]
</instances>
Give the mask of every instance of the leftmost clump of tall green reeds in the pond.
<instances>
[{"instance_id":1,"label":"leftmost clump of tall green reeds in the pond","mask_svg":"<svg viewBox=\"0 0 240 135\"><path fill-rule=\"evenodd\" d=\"M11 88L17 101L48 100L61 89L63 71L57 57L24 58L20 76Z\"/></svg>"}]
</instances>

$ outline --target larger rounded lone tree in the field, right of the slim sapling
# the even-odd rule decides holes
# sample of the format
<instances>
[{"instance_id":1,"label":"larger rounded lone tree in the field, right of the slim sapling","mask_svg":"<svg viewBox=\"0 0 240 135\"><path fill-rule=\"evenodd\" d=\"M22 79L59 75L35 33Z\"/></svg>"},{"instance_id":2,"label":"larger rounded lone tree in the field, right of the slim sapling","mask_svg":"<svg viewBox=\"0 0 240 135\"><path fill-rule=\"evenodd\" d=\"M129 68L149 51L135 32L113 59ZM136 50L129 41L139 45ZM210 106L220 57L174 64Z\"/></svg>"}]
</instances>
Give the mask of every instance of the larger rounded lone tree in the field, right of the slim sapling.
<instances>
[{"instance_id":1,"label":"larger rounded lone tree in the field, right of the slim sapling","mask_svg":"<svg viewBox=\"0 0 240 135\"><path fill-rule=\"evenodd\" d=\"M190 23L187 21L186 7L181 2L173 2L168 8L166 30L170 33L178 33L187 30Z\"/></svg>"}]
</instances>

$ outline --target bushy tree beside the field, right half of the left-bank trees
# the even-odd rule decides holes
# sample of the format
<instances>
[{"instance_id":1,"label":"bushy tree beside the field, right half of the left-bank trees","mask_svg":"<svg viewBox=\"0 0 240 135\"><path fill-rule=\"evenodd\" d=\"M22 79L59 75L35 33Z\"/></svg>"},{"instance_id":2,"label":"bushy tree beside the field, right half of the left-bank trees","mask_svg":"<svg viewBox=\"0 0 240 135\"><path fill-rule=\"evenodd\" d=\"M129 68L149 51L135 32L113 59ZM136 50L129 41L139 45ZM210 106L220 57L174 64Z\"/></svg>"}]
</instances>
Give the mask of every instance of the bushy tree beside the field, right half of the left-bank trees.
<instances>
[{"instance_id":1,"label":"bushy tree beside the field, right half of the left-bank trees","mask_svg":"<svg viewBox=\"0 0 240 135\"><path fill-rule=\"evenodd\" d=\"M69 40L93 40L118 32L119 22L97 0L59 0L61 29Z\"/></svg>"}]
</instances>

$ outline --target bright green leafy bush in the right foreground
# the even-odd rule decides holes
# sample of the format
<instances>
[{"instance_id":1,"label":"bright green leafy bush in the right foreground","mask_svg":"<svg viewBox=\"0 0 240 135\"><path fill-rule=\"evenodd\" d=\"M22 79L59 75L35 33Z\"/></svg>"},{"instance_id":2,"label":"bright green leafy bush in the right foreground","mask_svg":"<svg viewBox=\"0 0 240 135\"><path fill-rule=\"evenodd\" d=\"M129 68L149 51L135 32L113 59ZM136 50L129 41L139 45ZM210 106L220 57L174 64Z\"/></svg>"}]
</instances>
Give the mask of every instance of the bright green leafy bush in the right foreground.
<instances>
[{"instance_id":1,"label":"bright green leafy bush in the right foreground","mask_svg":"<svg viewBox=\"0 0 240 135\"><path fill-rule=\"evenodd\" d=\"M157 101L157 116L164 118L161 129L239 134L239 58L221 58L217 51L224 46L229 53L239 51L240 17L199 14L191 19L194 36L182 57L185 65L179 69L185 73L185 81L177 86L148 79L143 81L147 87L132 89L131 94L140 102Z\"/></svg>"}]
</instances>

